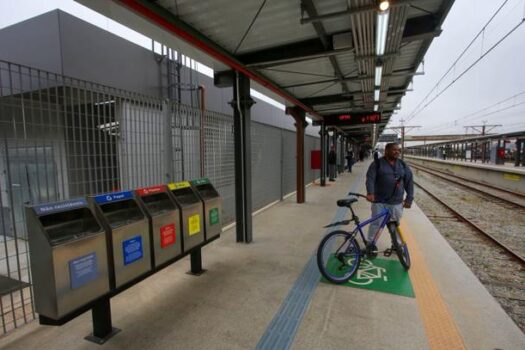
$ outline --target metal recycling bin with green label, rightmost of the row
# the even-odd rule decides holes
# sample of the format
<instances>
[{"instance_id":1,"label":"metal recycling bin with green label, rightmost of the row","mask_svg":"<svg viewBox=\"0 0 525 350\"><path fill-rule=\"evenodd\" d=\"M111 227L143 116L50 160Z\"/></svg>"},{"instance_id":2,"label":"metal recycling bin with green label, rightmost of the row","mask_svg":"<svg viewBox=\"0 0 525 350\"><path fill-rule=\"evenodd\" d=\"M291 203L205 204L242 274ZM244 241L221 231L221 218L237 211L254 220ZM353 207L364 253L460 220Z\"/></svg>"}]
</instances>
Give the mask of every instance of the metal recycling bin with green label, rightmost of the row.
<instances>
[{"instance_id":1,"label":"metal recycling bin with green label, rightmost of the row","mask_svg":"<svg viewBox=\"0 0 525 350\"><path fill-rule=\"evenodd\" d=\"M204 203L204 235L206 239L221 234L222 199L207 178L191 181L195 192Z\"/></svg>"}]
</instances>

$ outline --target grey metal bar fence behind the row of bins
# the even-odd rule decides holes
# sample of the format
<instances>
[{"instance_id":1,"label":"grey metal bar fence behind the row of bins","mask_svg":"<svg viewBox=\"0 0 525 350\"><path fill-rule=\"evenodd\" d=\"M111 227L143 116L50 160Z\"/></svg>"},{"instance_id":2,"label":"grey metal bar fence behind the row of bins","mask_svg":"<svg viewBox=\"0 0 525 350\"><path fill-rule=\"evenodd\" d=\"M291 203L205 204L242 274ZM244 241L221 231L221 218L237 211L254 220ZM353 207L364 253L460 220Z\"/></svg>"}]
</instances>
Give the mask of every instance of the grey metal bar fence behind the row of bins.
<instances>
[{"instance_id":1,"label":"grey metal bar fence behind the row of bins","mask_svg":"<svg viewBox=\"0 0 525 350\"><path fill-rule=\"evenodd\" d=\"M295 134L252 125L255 210L295 190ZM317 138L305 144L319 148ZM194 179L201 168L233 221L231 115L0 61L3 333L36 317L25 205ZM307 182L315 175L307 170Z\"/></svg>"}]
</instances>

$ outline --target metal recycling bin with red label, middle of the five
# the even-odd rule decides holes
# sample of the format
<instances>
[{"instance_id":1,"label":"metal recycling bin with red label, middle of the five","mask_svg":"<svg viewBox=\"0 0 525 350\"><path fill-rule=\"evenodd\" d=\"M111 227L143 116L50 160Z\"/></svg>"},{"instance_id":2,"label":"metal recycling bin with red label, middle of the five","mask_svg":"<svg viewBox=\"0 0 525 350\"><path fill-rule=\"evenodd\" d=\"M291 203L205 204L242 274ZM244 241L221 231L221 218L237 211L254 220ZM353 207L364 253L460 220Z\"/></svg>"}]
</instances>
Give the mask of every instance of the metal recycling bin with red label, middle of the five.
<instances>
[{"instance_id":1,"label":"metal recycling bin with red label, middle of the five","mask_svg":"<svg viewBox=\"0 0 525 350\"><path fill-rule=\"evenodd\" d=\"M157 267L182 253L180 211L165 185L139 188L135 194L149 220L153 261Z\"/></svg>"}]
</instances>

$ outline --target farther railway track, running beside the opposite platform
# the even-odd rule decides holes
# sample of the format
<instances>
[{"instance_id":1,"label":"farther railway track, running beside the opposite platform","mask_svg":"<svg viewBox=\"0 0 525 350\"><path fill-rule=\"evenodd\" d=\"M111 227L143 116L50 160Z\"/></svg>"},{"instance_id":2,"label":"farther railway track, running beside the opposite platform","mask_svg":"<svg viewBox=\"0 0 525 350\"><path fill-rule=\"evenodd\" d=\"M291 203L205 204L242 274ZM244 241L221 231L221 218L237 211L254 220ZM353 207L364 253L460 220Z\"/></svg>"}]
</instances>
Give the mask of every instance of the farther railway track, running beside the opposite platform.
<instances>
[{"instance_id":1,"label":"farther railway track, running beside the opposite platform","mask_svg":"<svg viewBox=\"0 0 525 350\"><path fill-rule=\"evenodd\" d=\"M431 169L420 164L414 164L413 162L408 162L412 168L423 171L427 174L431 174L437 178L448 181L458 186L462 186L471 191L480 193L486 197L491 197L494 200L504 202L508 205L519 207L525 209L525 195L502 189L496 186L491 186L481 182L473 181L466 179L461 176L452 175L443 171L436 169Z\"/></svg>"}]
</instances>

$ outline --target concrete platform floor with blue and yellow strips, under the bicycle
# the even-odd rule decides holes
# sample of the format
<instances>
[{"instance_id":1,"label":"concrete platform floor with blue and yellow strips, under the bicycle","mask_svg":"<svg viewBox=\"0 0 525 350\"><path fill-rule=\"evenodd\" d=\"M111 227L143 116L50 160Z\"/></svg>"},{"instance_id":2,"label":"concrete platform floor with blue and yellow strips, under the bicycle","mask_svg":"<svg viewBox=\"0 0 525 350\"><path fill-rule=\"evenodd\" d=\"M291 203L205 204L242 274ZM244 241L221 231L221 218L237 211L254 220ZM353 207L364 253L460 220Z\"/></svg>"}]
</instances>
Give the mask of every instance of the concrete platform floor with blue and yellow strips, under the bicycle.
<instances>
[{"instance_id":1,"label":"concrete platform floor with blue and yellow strips, under the bicycle","mask_svg":"<svg viewBox=\"0 0 525 350\"><path fill-rule=\"evenodd\" d=\"M185 258L117 295L113 325L122 331L102 347L524 349L525 335L417 204L402 221L409 273L389 275L379 261L399 265L397 258L378 257L361 281L406 281L408 274L409 292L321 281L314 254L327 232L322 226L346 217L335 202L364 192L366 166L359 163L327 187L309 186L304 204L291 196L255 215L251 244L235 243L234 228L226 230L203 248L203 275L186 274ZM355 208L361 219L369 216L368 203ZM383 235L379 248L389 244ZM0 339L0 348L99 349L83 339L91 331L91 313L62 327L33 322Z\"/></svg>"}]
</instances>

